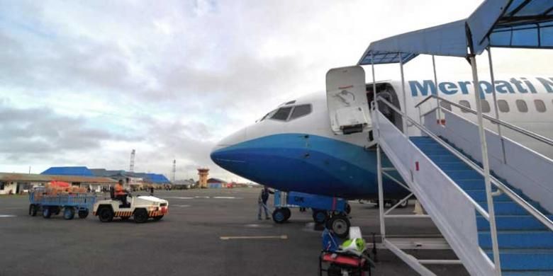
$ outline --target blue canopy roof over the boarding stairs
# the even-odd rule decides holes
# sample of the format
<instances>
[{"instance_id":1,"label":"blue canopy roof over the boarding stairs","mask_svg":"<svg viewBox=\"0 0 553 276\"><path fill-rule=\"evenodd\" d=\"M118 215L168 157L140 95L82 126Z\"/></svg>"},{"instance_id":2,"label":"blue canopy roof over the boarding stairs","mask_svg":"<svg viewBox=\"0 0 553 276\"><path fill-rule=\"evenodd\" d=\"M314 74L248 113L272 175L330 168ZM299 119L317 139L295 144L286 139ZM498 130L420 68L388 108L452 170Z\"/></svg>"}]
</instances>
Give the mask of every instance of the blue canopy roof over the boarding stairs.
<instances>
[{"instance_id":1,"label":"blue canopy roof over the boarding stairs","mask_svg":"<svg viewBox=\"0 0 553 276\"><path fill-rule=\"evenodd\" d=\"M469 18L372 42L359 65L406 63L418 54L470 57L486 47L553 49L553 1L486 0Z\"/></svg>"}]
</instances>

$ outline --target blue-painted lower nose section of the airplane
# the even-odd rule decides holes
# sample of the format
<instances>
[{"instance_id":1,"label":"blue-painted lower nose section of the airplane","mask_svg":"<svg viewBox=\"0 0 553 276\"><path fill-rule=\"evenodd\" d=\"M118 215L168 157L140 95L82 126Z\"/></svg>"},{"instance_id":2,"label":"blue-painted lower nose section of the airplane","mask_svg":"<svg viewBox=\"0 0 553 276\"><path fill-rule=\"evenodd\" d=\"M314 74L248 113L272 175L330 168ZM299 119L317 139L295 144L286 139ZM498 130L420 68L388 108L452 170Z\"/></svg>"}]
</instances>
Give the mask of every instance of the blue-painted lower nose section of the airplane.
<instances>
[{"instance_id":1,"label":"blue-painted lower nose section of the airplane","mask_svg":"<svg viewBox=\"0 0 553 276\"><path fill-rule=\"evenodd\" d=\"M391 166L383 157L383 166ZM376 150L337 139L274 134L220 148L211 159L238 176L279 190L352 199L378 197ZM384 178L384 197L407 193Z\"/></svg>"}]
</instances>

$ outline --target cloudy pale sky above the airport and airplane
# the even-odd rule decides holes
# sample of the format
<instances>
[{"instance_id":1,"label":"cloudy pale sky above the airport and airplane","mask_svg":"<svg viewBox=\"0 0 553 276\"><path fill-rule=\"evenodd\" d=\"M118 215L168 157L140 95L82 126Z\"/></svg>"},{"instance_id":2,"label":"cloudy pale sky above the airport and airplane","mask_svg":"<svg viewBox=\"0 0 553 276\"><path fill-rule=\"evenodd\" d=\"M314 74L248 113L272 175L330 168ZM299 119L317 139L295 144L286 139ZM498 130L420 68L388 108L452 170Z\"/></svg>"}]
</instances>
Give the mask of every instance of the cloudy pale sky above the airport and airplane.
<instances>
[{"instance_id":1,"label":"cloudy pale sky above the airport and airplane","mask_svg":"<svg viewBox=\"0 0 553 276\"><path fill-rule=\"evenodd\" d=\"M0 172L128 169L135 149L135 171L169 177L175 159L177 179L207 167L243 181L209 159L218 140L286 100L323 93L326 71L356 64L371 41L466 18L480 3L2 1ZM550 51L493 53L498 74L544 74L553 60ZM437 57L439 74L469 69ZM418 57L406 77L431 70ZM397 77L397 66L376 71Z\"/></svg>"}]
</instances>

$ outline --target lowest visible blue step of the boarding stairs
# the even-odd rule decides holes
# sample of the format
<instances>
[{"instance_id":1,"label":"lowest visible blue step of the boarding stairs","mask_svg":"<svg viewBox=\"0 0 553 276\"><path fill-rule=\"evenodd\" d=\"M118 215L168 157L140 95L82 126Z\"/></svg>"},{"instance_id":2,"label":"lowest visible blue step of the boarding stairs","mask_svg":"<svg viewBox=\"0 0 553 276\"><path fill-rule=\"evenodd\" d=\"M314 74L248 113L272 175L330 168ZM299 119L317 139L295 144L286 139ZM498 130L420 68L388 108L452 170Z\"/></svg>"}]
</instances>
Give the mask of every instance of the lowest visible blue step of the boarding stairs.
<instances>
[{"instance_id":1,"label":"lowest visible blue step of the boarding stairs","mask_svg":"<svg viewBox=\"0 0 553 276\"><path fill-rule=\"evenodd\" d=\"M492 251L486 251L486 254L490 260L493 260ZM501 272L503 275L553 275L553 251L503 250L499 253L499 260L501 260ZM505 274L505 272L512 274ZM520 272L527 274L520 274ZM543 274L545 272L549 274Z\"/></svg>"}]
</instances>

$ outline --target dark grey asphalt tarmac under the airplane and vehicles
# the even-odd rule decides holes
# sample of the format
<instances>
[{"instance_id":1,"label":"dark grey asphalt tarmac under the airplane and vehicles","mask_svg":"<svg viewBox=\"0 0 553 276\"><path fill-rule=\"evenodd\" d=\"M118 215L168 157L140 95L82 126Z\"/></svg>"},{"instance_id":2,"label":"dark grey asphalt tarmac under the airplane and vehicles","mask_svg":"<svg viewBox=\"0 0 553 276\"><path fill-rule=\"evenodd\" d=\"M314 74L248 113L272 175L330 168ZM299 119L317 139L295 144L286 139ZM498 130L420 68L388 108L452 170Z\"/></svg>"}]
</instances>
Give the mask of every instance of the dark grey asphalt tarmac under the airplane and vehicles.
<instances>
[{"instance_id":1,"label":"dark grey asphalt tarmac under the airplane and vehicles","mask_svg":"<svg viewBox=\"0 0 553 276\"><path fill-rule=\"evenodd\" d=\"M101 223L91 214L73 220L30 217L27 196L0 196L0 276L318 275L321 231L311 212L292 209L285 224L258 220L258 195L259 188L156 191L155 196L169 200L169 214L145 224L132 219ZM352 226L361 227L372 247L378 209L350 205ZM412 211L413 205L401 210ZM389 236L440 236L430 219L389 219L386 226ZM447 250L410 253L456 258ZM373 275L417 275L387 250L377 257ZM428 268L437 275L468 275L462 265Z\"/></svg>"}]
</instances>

